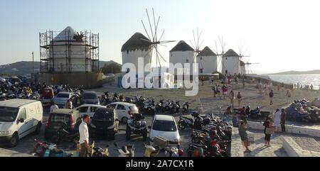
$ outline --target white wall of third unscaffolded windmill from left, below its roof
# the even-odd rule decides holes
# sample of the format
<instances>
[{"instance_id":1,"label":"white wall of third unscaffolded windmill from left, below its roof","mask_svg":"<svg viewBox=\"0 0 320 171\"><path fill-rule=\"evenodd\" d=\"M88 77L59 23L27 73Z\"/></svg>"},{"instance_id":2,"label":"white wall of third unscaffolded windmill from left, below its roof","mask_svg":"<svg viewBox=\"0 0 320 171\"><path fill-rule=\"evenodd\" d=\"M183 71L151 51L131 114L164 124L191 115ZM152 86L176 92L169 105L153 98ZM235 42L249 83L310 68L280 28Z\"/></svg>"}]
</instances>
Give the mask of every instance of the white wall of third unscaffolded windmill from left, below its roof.
<instances>
[{"instance_id":1,"label":"white wall of third unscaffolded windmill from left, below its roof","mask_svg":"<svg viewBox=\"0 0 320 171\"><path fill-rule=\"evenodd\" d=\"M216 56L203 56L197 57L197 62L199 64L198 73L201 74L200 70L203 69L203 74L212 74L212 72L217 71L217 57Z\"/></svg>"}]
</instances>

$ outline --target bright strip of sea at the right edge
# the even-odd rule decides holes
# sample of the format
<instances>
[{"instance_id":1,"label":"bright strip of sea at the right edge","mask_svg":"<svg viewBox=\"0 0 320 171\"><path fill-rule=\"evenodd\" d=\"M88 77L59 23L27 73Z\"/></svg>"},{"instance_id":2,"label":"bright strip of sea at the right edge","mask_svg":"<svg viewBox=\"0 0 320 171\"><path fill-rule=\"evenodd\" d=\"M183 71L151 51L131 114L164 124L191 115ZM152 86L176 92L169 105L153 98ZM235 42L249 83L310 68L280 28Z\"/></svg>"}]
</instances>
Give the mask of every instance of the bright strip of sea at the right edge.
<instances>
[{"instance_id":1,"label":"bright strip of sea at the right edge","mask_svg":"<svg viewBox=\"0 0 320 171\"><path fill-rule=\"evenodd\" d=\"M320 75L267 75L276 82L284 82L287 84L297 84L299 82L303 87L305 85L313 85L314 89L319 89Z\"/></svg>"}]
</instances>

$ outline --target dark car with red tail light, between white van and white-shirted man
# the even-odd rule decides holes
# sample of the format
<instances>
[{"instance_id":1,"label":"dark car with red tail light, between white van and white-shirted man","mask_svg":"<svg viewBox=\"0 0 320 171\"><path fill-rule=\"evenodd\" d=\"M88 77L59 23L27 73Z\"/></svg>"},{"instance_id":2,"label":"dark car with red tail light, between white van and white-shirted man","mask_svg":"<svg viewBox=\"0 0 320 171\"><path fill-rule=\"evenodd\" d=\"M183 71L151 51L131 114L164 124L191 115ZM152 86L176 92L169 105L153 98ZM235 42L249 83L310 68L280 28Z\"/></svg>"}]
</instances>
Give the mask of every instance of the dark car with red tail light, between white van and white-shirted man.
<instances>
[{"instance_id":1,"label":"dark car with red tail light, between white van and white-shirted man","mask_svg":"<svg viewBox=\"0 0 320 171\"><path fill-rule=\"evenodd\" d=\"M61 141L78 142L81 122L79 111L56 109L48 117L45 139L53 143L60 143Z\"/></svg>"}]
</instances>

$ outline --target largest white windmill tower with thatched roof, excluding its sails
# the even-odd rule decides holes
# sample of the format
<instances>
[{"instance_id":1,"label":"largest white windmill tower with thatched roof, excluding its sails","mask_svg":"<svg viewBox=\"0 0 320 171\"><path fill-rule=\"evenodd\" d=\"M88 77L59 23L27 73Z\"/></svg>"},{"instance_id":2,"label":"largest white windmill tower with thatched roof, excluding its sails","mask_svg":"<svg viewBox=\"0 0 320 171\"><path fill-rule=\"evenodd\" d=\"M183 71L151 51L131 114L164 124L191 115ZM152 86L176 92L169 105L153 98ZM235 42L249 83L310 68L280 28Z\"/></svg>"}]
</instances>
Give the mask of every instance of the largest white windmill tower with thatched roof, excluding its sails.
<instances>
[{"instance_id":1,"label":"largest white windmill tower with thatched roof, excluding its sails","mask_svg":"<svg viewBox=\"0 0 320 171\"><path fill-rule=\"evenodd\" d=\"M142 40L144 39L144 40ZM136 72L138 74L138 57L144 57L144 66L147 63L151 63L152 49L146 36L142 33L134 33L129 40L127 40L124 45L122 45L122 65L125 63L132 63L136 67ZM150 67L144 72L149 72Z\"/></svg>"}]
</instances>

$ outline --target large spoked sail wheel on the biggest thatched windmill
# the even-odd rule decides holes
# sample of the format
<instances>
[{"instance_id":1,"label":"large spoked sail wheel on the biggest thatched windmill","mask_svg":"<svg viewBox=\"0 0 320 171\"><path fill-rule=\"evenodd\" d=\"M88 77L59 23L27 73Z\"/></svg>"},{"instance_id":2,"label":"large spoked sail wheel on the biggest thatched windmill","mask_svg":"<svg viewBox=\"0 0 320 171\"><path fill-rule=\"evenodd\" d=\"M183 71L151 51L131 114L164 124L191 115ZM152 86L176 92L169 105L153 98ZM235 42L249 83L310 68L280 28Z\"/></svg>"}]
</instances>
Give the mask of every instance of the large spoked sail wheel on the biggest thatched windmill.
<instances>
[{"instance_id":1,"label":"large spoked sail wheel on the biggest thatched windmill","mask_svg":"<svg viewBox=\"0 0 320 171\"><path fill-rule=\"evenodd\" d=\"M162 33L161 33L161 35L159 37L158 36L158 33L159 33L158 32L158 26L159 26L160 16L156 20L156 17L154 16L154 9L152 9L152 14L153 14L153 18L151 18L151 20L150 20L148 9L146 9L146 16L148 18L149 28L150 28L149 32L147 31L146 26L144 25L144 21L141 20L141 22L142 22L142 26L144 27L144 31L146 32L146 35L148 36L149 40L146 40L146 39L143 39L143 38L141 40L144 40L144 41L150 43L150 45L151 45L151 48L150 48L151 58L150 58L150 60L152 59L152 52L154 50L156 51L156 67L158 67L158 62L159 62L159 66L161 67L161 62L160 62L159 57L161 57L162 60L164 60L164 62L166 62L166 60L159 53L158 45L166 47L166 45L164 45L165 43L175 42L176 40L161 40L163 35L164 35L164 31L162 31ZM153 22L152 22L152 20L153 20ZM151 64L151 61L149 63Z\"/></svg>"}]
</instances>

